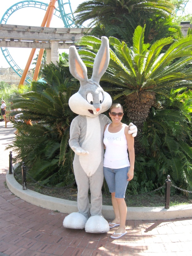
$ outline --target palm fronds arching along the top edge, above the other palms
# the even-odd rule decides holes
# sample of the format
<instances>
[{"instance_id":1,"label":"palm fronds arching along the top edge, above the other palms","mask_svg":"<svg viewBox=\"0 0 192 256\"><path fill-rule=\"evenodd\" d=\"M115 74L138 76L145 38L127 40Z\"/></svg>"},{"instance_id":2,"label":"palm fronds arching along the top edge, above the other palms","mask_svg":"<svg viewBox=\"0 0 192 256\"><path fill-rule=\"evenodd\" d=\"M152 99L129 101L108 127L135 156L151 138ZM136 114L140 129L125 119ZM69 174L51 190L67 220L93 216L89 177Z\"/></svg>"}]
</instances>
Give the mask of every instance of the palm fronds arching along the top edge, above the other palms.
<instances>
[{"instance_id":1,"label":"palm fronds arching along the top edge, above the other palms","mask_svg":"<svg viewBox=\"0 0 192 256\"><path fill-rule=\"evenodd\" d=\"M96 21L101 24L113 23L119 15L140 12L142 15L159 12L161 17L166 17L173 11L173 5L167 0L93 0L86 1L76 9L76 23L82 25L84 21L91 20L91 24Z\"/></svg>"}]
</instances>

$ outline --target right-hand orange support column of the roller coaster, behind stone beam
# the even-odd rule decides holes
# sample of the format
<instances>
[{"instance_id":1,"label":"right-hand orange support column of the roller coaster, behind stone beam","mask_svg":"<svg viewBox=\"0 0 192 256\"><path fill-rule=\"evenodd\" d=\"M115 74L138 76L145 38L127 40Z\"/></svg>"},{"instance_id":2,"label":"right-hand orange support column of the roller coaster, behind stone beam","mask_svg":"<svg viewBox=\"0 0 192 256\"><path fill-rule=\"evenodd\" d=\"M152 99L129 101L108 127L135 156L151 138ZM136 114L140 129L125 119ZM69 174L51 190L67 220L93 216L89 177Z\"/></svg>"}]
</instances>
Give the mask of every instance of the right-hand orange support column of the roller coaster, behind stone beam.
<instances>
[{"instance_id":1,"label":"right-hand orange support column of the roller coaster, behind stone beam","mask_svg":"<svg viewBox=\"0 0 192 256\"><path fill-rule=\"evenodd\" d=\"M50 24L51 24L51 20L52 20L52 17L53 17L54 9L56 8L55 7L55 3L56 2L57 2L57 0L52 0L52 2L51 2L50 11L49 11L46 27L49 27ZM33 75L33 80L35 80L35 81L37 81L37 78L38 78L38 74L39 74L39 70L40 70L41 62L42 62L42 58L43 58L43 53L44 53L44 49L40 49L39 56L38 56L38 59L37 59L37 64L36 64L34 75Z\"/></svg>"}]
</instances>

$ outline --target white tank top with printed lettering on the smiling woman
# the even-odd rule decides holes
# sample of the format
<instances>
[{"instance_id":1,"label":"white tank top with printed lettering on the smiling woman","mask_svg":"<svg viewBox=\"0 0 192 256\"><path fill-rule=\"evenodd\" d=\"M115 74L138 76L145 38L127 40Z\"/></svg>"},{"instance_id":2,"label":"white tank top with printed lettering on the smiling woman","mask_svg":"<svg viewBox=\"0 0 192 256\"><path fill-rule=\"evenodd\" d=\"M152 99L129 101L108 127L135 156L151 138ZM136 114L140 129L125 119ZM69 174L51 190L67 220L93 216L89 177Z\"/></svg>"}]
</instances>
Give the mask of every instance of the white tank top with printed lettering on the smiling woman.
<instances>
[{"instance_id":1,"label":"white tank top with printed lettering on the smiling woman","mask_svg":"<svg viewBox=\"0 0 192 256\"><path fill-rule=\"evenodd\" d=\"M123 124L122 129L118 133L110 133L107 125L104 132L104 145L106 147L104 153L104 167L118 169L130 166L127 153L127 139L125 136L126 124Z\"/></svg>"}]
</instances>

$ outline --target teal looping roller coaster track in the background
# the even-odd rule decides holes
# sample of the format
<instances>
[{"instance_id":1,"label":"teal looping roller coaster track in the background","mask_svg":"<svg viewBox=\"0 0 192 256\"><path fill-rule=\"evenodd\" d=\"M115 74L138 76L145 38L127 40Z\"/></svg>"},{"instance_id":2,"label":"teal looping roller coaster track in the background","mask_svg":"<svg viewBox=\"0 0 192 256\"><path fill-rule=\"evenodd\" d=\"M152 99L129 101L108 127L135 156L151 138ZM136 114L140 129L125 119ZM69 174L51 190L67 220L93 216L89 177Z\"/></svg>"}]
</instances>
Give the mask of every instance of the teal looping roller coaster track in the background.
<instances>
[{"instance_id":1,"label":"teal looping roller coaster track in the background","mask_svg":"<svg viewBox=\"0 0 192 256\"><path fill-rule=\"evenodd\" d=\"M71 3L70 0L58 0L58 6L59 8L56 8L54 11L54 15L56 17L58 17L59 19L63 20L64 23L64 27L66 28L72 28L72 27L76 27L75 23L74 23L74 16L73 16L73 12L71 9ZM17 10L22 9L22 8L26 8L26 7L35 7L35 8L39 8L42 10L47 10L48 8L48 3L43 3L43 2L39 2L39 1L34 1L34 0L24 0L18 3L15 3L14 5L12 5L9 9L7 9L7 11L3 14L2 19L0 20L0 24L6 24L8 21L8 18ZM65 8L66 7L66 8ZM69 12L66 13L65 9L69 9ZM7 47L1 47L1 51L3 53L3 56L5 57L5 59L7 60L8 64L11 66L11 68L20 76L22 77L23 74L23 70L16 64L16 62L13 60L13 58L11 57L11 54L8 51ZM27 75L25 82L30 83L32 81L32 78L30 76Z\"/></svg>"}]
</instances>

